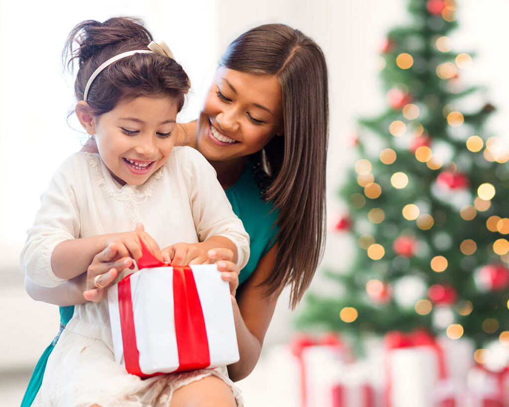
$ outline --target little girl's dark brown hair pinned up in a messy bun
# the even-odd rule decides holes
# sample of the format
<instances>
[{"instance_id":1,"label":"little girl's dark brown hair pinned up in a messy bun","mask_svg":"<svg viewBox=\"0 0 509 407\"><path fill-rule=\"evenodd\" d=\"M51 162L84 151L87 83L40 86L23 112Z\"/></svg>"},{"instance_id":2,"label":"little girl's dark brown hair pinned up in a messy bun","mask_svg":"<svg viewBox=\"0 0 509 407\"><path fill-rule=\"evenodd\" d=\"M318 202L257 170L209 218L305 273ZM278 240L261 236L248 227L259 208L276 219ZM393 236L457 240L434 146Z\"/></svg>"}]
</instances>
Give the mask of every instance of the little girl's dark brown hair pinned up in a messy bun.
<instances>
[{"instance_id":1,"label":"little girl's dark brown hair pinned up in a messy bun","mask_svg":"<svg viewBox=\"0 0 509 407\"><path fill-rule=\"evenodd\" d=\"M151 41L152 35L136 18L116 17L103 23L87 20L77 24L62 53L64 68L71 73L78 62L74 82L77 100L83 100L90 76L102 63L122 52L148 50ZM101 71L90 86L87 103L93 115L100 115L115 108L121 100L169 96L177 101L180 111L189 90L188 81L187 74L174 59L156 53L134 54Z\"/></svg>"}]
</instances>

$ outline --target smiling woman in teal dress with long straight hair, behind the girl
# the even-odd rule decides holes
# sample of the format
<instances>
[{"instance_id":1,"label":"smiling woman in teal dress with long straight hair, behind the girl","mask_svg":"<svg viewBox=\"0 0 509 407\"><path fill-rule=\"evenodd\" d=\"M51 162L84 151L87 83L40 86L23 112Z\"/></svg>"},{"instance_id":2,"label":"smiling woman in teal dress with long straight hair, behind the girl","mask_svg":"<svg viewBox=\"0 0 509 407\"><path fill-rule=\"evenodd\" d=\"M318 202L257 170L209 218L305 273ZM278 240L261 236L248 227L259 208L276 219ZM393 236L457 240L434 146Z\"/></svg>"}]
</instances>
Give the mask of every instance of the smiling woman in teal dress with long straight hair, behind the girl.
<instances>
[{"instance_id":1,"label":"smiling woman in teal dress with long straight hair, behind the girl","mask_svg":"<svg viewBox=\"0 0 509 407\"><path fill-rule=\"evenodd\" d=\"M196 122L178 135L213 165L217 178L250 236L249 263L240 272L234 314L239 362L233 381L256 365L281 290L291 286L294 308L308 287L323 251L325 168L328 139L327 69L320 47L282 24L242 34L221 56ZM215 258L229 260L228 253ZM105 249L87 273L56 288L25 282L36 300L65 306L100 300L111 283L105 274L123 259ZM224 261L225 269L235 267ZM61 308L62 323L73 307ZM57 338L58 339L58 338ZM39 361L22 406L40 386L51 345ZM197 382L175 392L192 398Z\"/></svg>"}]
</instances>

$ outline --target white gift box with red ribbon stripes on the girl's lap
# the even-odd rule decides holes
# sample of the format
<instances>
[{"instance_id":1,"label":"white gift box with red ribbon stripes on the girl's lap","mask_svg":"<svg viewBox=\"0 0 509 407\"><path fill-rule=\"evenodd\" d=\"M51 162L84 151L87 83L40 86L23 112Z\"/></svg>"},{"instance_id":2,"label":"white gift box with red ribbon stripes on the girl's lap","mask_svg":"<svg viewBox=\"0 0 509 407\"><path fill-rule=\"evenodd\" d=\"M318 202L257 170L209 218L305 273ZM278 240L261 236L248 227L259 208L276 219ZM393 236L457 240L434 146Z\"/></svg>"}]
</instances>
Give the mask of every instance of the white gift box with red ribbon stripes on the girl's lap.
<instances>
[{"instance_id":1,"label":"white gift box with red ribbon stripes on the girl's lap","mask_svg":"<svg viewBox=\"0 0 509 407\"><path fill-rule=\"evenodd\" d=\"M139 270L111 286L115 360L142 377L239 360L229 284L215 265Z\"/></svg>"}]
</instances>

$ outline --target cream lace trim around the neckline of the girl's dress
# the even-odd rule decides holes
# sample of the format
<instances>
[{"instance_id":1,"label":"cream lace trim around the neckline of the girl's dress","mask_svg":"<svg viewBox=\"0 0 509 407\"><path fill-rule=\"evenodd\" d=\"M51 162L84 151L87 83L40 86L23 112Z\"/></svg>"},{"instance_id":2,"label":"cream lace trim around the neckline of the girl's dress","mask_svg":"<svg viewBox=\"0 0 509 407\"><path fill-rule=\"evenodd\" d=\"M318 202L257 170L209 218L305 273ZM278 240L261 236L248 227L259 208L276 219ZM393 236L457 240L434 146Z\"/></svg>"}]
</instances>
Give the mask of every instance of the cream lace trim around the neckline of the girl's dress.
<instances>
[{"instance_id":1,"label":"cream lace trim around the neckline of the girl's dress","mask_svg":"<svg viewBox=\"0 0 509 407\"><path fill-rule=\"evenodd\" d=\"M100 162L97 156L92 153L85 154L89 156L89 162L93 168L97 185L103 189L106 196L112 197L120 202L124 202L127 216L129 216L131 221L136 222L139 217L138 205L145 202L150 196L152 196L156 182L163 176L164 166L154 172L148 182L144 184L147 185L144 192L138 192L136 191L135 187L127 184L124 185L120 190L115 191L106 185L104 178L99 172Z\"/></svg>"}]
</instances>

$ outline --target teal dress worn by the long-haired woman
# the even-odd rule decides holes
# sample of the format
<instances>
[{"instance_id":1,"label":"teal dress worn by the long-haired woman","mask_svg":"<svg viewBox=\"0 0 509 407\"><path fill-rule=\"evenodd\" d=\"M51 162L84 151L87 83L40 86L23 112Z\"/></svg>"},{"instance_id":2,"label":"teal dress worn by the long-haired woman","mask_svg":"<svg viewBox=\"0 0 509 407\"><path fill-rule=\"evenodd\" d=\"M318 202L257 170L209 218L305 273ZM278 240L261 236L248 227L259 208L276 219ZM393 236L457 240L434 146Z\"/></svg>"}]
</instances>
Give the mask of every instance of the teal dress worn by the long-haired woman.
<instances>
[{"instance_id":1,"label":"teal dress worn by the long-haired woman","mask_svg":"<svg viewBox=\"0 0 509 407\"><path fill-rule=\"evenodd\" d=\"M242 220L249 235L249 261L240 271L239 284L242 284L253 273L260 258L275 243L278 227L273 226L277 220L277 211L273 210L270 202L264 202L260 197L258 183L254 180L252 165L248 165L237 182L224 192L226 193L233 211ZM46 369L48 357L58 341L62 330L74 313L74 306L60 307L60 332L46 348L34 368L21 407L29 407L39 391L42 377Z\"/></svg>"}]
</instances>

